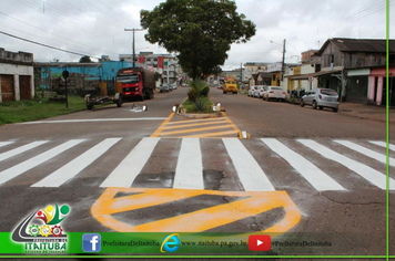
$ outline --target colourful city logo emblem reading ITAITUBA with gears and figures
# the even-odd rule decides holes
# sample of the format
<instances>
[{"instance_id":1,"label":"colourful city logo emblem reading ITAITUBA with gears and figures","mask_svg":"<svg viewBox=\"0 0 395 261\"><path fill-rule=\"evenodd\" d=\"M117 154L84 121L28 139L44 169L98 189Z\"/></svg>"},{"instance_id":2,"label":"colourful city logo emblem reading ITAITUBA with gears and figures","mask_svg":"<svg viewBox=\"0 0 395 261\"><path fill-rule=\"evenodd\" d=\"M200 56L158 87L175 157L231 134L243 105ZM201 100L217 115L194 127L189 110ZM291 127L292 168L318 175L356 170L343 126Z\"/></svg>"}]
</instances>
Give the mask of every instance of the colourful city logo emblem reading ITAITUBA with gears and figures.
<instances>
[{"instance_id":1,"label":"colourful city logo emblem reading ITAITUBA with gears and figures","mask_svg":"<svg viewBox=\"0 0 395 261\"><path fill-rule=\"evenodd\" d=\"M58 203L31 212L12 232L14 242L24 243L26 253L65 253L68 236L61 222L70 207Z\"/></svg>"}]
</instances>

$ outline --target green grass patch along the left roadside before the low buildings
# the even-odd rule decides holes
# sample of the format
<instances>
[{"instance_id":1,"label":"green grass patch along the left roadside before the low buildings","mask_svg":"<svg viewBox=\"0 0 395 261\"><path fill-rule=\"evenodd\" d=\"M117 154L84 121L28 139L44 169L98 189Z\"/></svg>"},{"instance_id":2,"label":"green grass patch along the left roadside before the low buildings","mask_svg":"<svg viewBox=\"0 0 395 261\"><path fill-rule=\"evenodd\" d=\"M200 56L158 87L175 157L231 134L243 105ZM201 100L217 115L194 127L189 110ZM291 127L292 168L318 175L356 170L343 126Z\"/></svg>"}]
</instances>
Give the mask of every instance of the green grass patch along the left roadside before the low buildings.
<instances>
[{"instance_id":1,"label":"green grass patch along the left roadside before the low buildings","mask_svg":"<svg viewBox=\"0 0 395 261\"><path fill-rule=\"evenodd\" d=\"M49 98L3 102L0 103L0 125L31 122L83 109L87 109L87 105L80 96L69 96L69 108L65 108L64 103L49 102Z\"/></svg>"}]
</instances>

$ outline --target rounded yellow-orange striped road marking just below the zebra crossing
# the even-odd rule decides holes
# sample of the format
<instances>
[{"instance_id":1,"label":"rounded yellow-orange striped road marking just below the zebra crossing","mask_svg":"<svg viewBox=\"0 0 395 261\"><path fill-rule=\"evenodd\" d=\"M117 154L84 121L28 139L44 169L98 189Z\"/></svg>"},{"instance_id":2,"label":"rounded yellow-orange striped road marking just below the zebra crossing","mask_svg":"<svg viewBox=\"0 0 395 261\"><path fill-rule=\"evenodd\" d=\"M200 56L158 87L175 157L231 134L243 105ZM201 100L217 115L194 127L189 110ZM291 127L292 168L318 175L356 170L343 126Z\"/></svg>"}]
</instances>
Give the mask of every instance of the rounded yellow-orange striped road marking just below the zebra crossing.
<instances>
[{"instance_id":1,"label":"rounded yellow-orange striped road marking just below the zebra crossing","mask_svg":"<svg viewBox=\"0 0 395 261\"><path fill-rule=\"evenodd\" d=\"M118 192L134 194L117 197ZM132 226L122 222L112 215L155 208L178 200L209 195L240 197L235 201L204 208L189 213ZM196 189L150 189L150 188L108 188L91 208L92 216L103 226L119 232L204 232L237 220L283 208L282 220L261 231L280 236L294 228L301 221L301 212L285 191L217 191Z\"/></svg>"}]
</instances>

